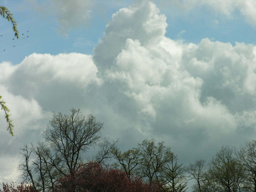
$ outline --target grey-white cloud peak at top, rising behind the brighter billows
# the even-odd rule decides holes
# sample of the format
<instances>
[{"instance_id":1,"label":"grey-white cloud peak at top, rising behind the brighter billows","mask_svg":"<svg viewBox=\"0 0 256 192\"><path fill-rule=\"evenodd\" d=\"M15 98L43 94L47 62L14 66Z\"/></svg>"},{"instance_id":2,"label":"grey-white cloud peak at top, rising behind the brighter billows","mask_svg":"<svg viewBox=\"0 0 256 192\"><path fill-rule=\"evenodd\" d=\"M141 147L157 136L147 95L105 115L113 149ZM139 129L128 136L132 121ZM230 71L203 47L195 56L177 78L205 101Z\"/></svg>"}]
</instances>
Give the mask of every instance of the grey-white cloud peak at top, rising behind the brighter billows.
<instances>
[{"instance_id":1,"label":"grey-white cloud peak at top, rising behind the brighter billows","mask_svg":"<svg viewBox=\"0 0 256 192\"><path fill-rule=\"evenodd\" d=\"M93 49L93 59L100 72L112 65L127 38L139 39L143 46L159 42L167 27L166 17L159 13L155 4L146 1L114 13L113 19L106 26L103 39Z\"/></svg>"}]
</instances>

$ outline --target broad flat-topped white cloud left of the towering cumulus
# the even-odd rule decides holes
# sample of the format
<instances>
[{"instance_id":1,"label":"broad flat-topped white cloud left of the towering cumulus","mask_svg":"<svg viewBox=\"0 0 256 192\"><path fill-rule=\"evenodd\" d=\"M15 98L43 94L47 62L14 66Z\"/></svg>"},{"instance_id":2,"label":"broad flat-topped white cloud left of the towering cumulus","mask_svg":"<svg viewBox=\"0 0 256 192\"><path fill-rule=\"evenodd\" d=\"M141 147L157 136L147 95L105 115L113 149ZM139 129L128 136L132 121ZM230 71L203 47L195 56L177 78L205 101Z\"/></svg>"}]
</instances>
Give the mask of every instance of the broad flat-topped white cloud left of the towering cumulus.
<instances>
[{"instance_id":1,"label":"broad flat-topped white cloud left of the towering cumulus","mask_svg":"<svg viewBox=\"0 0 256 192\"><path fill-rule=\"evenodd\" d=\"M3 65L6 63L1 63ZM78 105L83 100L79 90L86 88L91 82L100 83L91 56L79 53L56 56L34 53L19 65L8 66L8 70L13 72L2 83L10 85L10 92L34 98L44 109L50 111L55 111L55 106L62 105L66 99L74 99ZM2 72L4 74L4 70L0 73ZM69 91L67 87L70 88Z\"/></svg>"}]
</instances>

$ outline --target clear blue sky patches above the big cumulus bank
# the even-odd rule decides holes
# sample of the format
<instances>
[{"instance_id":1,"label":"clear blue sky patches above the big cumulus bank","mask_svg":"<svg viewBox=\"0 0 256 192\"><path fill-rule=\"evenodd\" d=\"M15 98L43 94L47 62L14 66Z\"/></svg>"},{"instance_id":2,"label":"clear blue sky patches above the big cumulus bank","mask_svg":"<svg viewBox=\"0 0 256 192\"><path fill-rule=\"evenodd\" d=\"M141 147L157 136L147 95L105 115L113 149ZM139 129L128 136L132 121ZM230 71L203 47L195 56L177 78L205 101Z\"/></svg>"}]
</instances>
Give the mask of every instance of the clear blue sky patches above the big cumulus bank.
<instances>
[{"instance_id":1,"label":"clear blue sky patches above the big cumulus bank","mask_svg":"<svg viewBox=\"0 0 256 192\"><path fill-rule=\"evenodd\" d=\"M1 39L1 49L7 48L6 51L8 51L8 54L1 53L3 61L17 64L33 52L54 55L62 52L93 54L92 49L103 37L105 26L112 19L112 14L136 1L96 1L90 5L90 18L76 26L67 27L63 33L59 31L60 24L55 11L50 6L50 1L31 2L2 1L2 4L14 14L20 31L20 39L12 40L14 37L10 23L7 20L1 21L3 26L1 33L4 34ZM255 25L246 22L238 10L233 10L231 15L226 15L221 12L216 13L207 5L195 6L191 10L180 10L168 1L154 3L167 17L166 37L183 39L184 42L195 44L206 37L211 40L230 42L232 45L236 41L255 44ZM50 10L47 10L47 6ZM76 16L79 17L78 14ZM27 30L29 33L25 33ZM179 34L182 31L184 32ZM23 33L25 39L23 39ZM27 38L28 35L29 38ZM14 45L16 50L11 49ZM15 57L12 57L14 53Z\"/></svg>"}]
</instances>

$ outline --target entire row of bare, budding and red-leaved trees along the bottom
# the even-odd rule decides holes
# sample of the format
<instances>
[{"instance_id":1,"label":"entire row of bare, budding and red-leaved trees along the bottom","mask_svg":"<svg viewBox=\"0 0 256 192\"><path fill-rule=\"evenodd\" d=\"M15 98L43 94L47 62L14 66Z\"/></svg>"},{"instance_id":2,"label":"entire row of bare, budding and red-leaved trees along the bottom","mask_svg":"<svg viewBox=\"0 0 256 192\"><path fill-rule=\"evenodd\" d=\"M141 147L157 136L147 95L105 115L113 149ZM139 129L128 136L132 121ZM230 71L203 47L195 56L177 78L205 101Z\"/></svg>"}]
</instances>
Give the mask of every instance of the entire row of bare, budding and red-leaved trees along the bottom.
<instances>
[{"instance_id":1,"label":"entire row of bare, budding and red-leaved trees along the bottom","mask_svg":"<svg viewBox=\"0 0 256 192\"><path fill-rule=\"evenodd\" d=\"M103 123L93 115L70 111L53 114L42 133L45 142L21 148L18 170L24 182L16 188L3 183L0 192L185 192L190 179L193 192L256 192L255 140L240 148L222 146L208 163L197 159L185 166L154 139L122 152L118 140L102 137ZM85 158L96 145L98 153ZM108 165L111 159L115 162Z\"/></svg>"}]
</instances>

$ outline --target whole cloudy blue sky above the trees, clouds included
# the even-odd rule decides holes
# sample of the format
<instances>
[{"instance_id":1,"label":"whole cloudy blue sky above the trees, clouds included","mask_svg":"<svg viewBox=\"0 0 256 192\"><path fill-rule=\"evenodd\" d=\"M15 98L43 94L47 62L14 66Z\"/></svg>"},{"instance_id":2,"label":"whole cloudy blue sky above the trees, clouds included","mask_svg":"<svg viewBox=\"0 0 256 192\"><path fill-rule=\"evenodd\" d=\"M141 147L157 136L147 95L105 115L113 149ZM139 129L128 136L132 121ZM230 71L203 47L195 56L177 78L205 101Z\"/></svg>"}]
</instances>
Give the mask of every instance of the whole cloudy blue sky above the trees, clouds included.
<instances>
[{"instance_id":1,"label":"whole cloudy blue sky above the trees, clouds included","mask_svg":"<svg viewBox=\"0 0 256 192\"><path fill-rule=\"evenodd\" d=\"M120 150L155 138L184 165L255 139L256 1L0 5L20 36L0 20L0 94L15 126L12 137L0 113L0 183L21 181L19 148L71 108L103 122Z\"/></svg>"}]
</instances>

